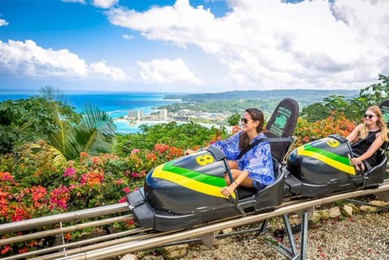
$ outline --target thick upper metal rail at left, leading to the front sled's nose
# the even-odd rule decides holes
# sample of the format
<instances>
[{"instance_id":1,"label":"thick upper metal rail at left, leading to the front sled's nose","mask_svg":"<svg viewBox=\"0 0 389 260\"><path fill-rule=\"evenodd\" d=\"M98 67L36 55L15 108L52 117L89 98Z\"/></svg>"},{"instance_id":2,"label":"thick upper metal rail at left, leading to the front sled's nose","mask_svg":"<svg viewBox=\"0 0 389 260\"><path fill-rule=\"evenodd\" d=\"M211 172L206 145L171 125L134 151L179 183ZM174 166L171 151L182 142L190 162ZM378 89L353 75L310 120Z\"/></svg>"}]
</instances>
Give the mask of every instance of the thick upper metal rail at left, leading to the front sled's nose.
<instances>
[{"instance_id":1,"label":"thick upper metal rail at left, leading to the front sled's nose","mask_svg":"<svg viewBox=\"0 0 389 260\"><path fill-rule=\"evenodd\" d=\"M22 220L18 222L12 222L0 225L0 235L19 232L25 230L31 230L36 228L42 228L58 224L60 222L74 222L77 220L84 220L94 217L100 217L105 215L111 215L116 213L122 213L129 211L127 203L119 203L115 205L108 205L93 209L80 210L68 213L57 214L53 216L41 217L30 220Z\"/></svg>"}]
</instances>

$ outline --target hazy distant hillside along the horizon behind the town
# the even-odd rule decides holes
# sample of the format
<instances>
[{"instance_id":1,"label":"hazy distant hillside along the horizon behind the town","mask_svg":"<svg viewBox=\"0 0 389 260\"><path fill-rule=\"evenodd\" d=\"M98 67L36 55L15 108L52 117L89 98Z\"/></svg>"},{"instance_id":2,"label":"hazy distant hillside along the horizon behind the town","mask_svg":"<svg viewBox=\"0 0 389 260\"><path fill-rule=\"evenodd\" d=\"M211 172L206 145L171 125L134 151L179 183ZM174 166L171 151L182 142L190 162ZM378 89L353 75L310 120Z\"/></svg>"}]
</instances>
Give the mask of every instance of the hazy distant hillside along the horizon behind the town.
<instances>
[{"instance_id":1,"label":"hazy distant hillside along the horizon behind the town","mask_svg":"<svg viewBox=\"0 0 389 260\"><path fill-rule=\"evenodd\" d=\"M247 90L221 93L204 93L189 95L166 95L164 99L182 99L183 101L228 100L228 99L265 99L265 98L310 98L321 101L329 95L358 96L359 90L314 90L314 89L279 89L279 90Z\"/></svg>"}]
</instances>

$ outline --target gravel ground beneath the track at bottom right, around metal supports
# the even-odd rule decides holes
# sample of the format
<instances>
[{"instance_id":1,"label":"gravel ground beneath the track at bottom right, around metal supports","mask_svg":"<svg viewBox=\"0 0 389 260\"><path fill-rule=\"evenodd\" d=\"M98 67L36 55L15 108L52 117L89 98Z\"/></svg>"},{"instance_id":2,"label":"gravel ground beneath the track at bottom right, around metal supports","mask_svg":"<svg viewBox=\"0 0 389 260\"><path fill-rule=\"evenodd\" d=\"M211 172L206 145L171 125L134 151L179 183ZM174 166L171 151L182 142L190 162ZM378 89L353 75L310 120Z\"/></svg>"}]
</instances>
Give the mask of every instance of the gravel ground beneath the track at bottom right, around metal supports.
<instances>
[{"instance_id":1,"label":"gravel ground beneath the track at bottom right, around metal supports","mask_svg":"<svg viewBox=\"0 0 389 260\"><path fill-rule=\"evenodd\" d=\"M290 224L300 219L291 215ZM358 214L353 218L330 219L308 228L307 260L389 260L389 214ZM259 224L242 227L250 229ZM282 219L275 218L269 226L282 229ZM234 231L241 230L234 229ZM193 243L188 254L179 260L285 260L265 238L247 239L252 234L216 240L212 249L202 243ZM300 232L295 234L297 247ZM282 238L280 238L282 239ZM282 242L287 244L287 237Z\"/></svg>"}]
</instances>

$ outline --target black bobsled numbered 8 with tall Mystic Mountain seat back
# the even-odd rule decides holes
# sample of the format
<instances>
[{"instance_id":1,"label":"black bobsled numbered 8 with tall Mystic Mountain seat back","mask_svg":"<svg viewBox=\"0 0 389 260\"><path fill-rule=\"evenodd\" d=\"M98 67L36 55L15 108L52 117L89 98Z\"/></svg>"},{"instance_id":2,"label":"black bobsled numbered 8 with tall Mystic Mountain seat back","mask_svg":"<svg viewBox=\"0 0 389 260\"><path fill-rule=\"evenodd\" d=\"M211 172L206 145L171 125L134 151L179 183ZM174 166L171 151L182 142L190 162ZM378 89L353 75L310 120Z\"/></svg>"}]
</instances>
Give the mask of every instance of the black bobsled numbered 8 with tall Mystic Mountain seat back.
<instances>
[{"instance_id":1,"label":"black bobsled numbered 8 with tall Mystic Mountain seat back","mask_svg":"<svg viewBox=\"0 0 389 260\"><path fill-rule=\"evenodd\" d=\"M276 107L266 125L268 138L283 137L287 141L271 142L275 182L257 191L239 186L227 197L220 193L226 186L223 178L229 172L226 156L215 146L153 169L144 187L127 195L135 221L141 227L157 231L191 229L205 221L243 215L246 212L271 212L284 197L285 158L299 107L286 98ZM230 174L230 173L229 173Z\"/></svg>"}]
</instances>

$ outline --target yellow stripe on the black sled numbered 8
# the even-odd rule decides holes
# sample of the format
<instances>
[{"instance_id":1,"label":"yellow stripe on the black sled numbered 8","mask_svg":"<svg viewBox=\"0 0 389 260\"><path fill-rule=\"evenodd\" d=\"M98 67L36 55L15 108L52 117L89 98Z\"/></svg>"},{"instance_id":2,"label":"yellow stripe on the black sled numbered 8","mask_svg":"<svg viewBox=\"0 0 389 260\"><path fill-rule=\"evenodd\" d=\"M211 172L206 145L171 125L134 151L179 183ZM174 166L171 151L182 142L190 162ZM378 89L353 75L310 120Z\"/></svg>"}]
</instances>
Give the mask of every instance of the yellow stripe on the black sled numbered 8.
<instances>
[{"instance_id":1,"label":"yellow stripe on the black sled numbered 8","mask_svg":"<svg viewBox=\"0 0 389 260\"><path fill-rule=\"evenodd\" d=\"M225 197L223 194L220 192L220 187L216 187L213 185L205 184L202 182L197 182L194 181L188 177L181 176L176 173L172 172L167 172L162 170L164 165L160 165L155 170L153 171L152 177L153 178L161 178L167 181L174 182L178 185L184 186L188 189L194 190L196 192L200 192L206 195L210 196L215 196L215 197L220 197L224 199L228 199L228 197ZM231 196L235 199L235 194L232 193Z\"/></svg>"}]
</instances>

